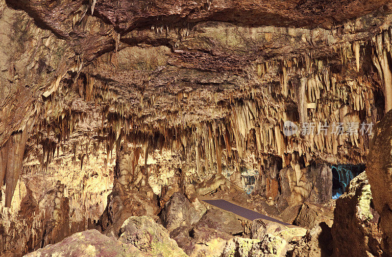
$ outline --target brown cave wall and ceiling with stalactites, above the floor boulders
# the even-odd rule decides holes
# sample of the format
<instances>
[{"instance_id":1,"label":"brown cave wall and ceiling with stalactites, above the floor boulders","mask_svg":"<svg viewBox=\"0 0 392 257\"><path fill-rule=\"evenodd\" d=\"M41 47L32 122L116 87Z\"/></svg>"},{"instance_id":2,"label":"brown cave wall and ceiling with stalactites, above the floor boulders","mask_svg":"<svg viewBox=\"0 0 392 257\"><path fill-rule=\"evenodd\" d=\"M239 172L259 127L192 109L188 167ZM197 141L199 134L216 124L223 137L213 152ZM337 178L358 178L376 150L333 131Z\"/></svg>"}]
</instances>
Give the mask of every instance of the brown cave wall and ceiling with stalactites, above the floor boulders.
<instances>
[{"instance_id":1,"label":"brown cave wall and ceiling with stalactites, above the floor boulders","mask_svg":"<svg viewBox=\"0 0 392 257\"><path fill-rule=\"evenodd\" d=\"M342 4L1 0L1 253L217 174L280 210L327 202L332 167L366 161L350 124L392 108L392 5Z\"/></svg>"}]
</instances>

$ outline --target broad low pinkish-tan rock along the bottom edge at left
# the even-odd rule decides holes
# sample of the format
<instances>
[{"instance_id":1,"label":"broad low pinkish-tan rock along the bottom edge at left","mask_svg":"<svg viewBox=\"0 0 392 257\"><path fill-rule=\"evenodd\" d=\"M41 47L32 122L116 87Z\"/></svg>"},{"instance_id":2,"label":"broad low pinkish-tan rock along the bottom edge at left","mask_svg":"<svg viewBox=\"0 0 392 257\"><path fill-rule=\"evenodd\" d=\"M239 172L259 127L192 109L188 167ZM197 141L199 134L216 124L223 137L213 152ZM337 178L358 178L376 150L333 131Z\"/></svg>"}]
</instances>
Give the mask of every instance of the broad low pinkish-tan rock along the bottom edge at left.
<instances>
[{"instance_id":1,"label":"broad low pinkish-tan rock along the bottom edge at left","mask_svg":"<svg viewBox=\"0 0 392 257\"><path fill-rule=\"evenodd\" d=\"M114 237L107 237L97 230L87 230L75 233L61 242L48 245L35 252L27 254L26 257L46 256L149 256L133 245L126 245Z\"/></svg>"}]
</instances>

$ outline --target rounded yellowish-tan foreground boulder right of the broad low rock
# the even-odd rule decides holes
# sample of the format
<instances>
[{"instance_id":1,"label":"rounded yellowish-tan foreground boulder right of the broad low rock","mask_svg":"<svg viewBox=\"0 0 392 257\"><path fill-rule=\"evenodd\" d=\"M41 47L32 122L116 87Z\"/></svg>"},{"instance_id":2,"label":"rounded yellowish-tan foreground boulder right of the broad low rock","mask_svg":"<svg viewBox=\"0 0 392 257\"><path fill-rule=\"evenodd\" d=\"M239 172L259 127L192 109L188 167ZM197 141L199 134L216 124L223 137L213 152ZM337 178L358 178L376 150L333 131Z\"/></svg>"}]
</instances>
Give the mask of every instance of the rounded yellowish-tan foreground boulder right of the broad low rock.
<instances>
[{"instance_id":1,"label":"rounded yellowish-tan foreground boulder right of the broad low rock","mask_svg":"<svg viewBox=\"0 0 392 257\"><path fill-rule=\"evenodd\" d=\"M186 256L170 238L168 231L147 216L129 217L125 220L120 230L119 241L135 246L152 256Z\"/></svg>"}]
</instances>

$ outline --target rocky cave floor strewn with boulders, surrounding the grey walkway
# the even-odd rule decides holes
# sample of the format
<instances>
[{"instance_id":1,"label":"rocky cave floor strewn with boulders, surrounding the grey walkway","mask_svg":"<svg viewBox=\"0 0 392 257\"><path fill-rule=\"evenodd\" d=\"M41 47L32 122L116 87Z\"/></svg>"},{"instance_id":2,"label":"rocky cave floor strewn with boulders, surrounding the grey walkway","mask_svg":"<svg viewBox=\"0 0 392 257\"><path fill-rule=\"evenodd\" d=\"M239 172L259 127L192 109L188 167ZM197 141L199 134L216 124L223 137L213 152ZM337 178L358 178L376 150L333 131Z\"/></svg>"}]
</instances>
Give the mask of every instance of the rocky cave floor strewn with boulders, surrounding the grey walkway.
<instances>
[{"instance_id":1,"label":"rocky cave floor strewn with boulders, surrounding the grey walkway","mask_svg":"<svg viewBox=\"0 0 392 257\"><path fill-rule=\"evenodd\" d=\"M169 193L171 187L179 190ZM281 210L278 199L248 195L223 176L199 185L171 185L166 201L148 195L152 191L148 184L133 184L126 197L122 185L114 188L119 191L112 192L97 224L26 256L383 255L379 215L371 207L366 172L355 177L337 200L307 201ZM200 199L225 199L294 225L251 221Z\"/></svg>"}]
</instances>

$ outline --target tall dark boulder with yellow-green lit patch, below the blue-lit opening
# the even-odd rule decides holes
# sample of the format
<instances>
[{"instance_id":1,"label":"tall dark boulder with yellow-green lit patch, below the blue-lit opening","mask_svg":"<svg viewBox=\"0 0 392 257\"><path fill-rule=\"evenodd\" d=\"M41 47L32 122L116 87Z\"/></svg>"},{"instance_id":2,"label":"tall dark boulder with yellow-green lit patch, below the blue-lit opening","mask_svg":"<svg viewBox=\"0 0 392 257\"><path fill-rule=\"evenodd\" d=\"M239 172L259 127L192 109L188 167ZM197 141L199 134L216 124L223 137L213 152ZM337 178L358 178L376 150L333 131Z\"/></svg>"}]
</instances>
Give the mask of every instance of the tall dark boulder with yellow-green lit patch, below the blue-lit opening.
<instances>
[{"instance_id":1,"label":"tall dark boulder with yellow-green lit patch, below the blue-lit opening","mask_svg":"<svg viewBox=\"0 0 392 257\"><path fill-rule=\"evenodd\" d=\"M335 256L381 256L382 232L367 172L355 177L336 200L332 236Z\"/></svg>"}]
</instances>

